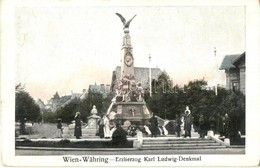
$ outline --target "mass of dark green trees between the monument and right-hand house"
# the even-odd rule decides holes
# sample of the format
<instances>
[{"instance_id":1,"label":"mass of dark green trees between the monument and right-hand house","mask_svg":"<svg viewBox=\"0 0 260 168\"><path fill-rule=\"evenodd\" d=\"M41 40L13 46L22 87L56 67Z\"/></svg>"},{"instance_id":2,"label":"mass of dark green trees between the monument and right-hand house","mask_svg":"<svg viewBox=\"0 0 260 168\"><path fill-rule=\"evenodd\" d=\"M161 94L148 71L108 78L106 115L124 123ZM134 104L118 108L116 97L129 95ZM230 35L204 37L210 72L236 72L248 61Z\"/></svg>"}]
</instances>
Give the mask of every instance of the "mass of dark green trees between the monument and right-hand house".
<instances>
[{"instance_id":1,"label":"mass of dark green trees between the monument and right-hand house","mask_svg":"<svg viewBox=\"0 0 260 168\"><path fill-rule=\"evenodd\" d=\"M173 86L169 75L164 71L158 80L152 81L152 97L146 93L145 101L150 111L170 120L175 119L176 114L183 115L186 106L189 106L195 127L198 127L199 117L203 114L207 129L216 132L221 131L222 117L227 113L231 120L231 132L244 133L245 96L219 87L218 95L215 95L215 91L206 86L207 81L204 79L190 81L184 88Z\"/></svg>"}]
</instances>

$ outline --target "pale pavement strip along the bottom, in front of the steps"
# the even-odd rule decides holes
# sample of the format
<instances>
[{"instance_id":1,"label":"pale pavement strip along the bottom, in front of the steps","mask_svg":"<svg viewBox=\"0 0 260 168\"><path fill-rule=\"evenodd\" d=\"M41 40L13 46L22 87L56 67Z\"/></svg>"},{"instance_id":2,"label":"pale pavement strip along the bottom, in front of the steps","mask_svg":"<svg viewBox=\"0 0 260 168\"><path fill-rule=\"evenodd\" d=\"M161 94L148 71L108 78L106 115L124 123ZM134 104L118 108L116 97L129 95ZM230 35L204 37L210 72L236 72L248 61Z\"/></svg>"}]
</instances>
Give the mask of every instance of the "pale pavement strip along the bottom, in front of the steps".
<instances>
[{"instance_id":1,"label":"pale pavement strip along the bottom, in front of the steps","mask_svg":"<svg viewBox=\"0 0 260 168\"><path fill-rule=\"evenodd\" d=\"M205 154L205 155L244 155L245 148L224 148L224 149L196 149L196 150L137 150L131 149L84 149L74 148L73 150L53 150L53 149L23 149L15 150L16 156L35 155L175 155L175 154Z\"/></svg>"}]
</instances>

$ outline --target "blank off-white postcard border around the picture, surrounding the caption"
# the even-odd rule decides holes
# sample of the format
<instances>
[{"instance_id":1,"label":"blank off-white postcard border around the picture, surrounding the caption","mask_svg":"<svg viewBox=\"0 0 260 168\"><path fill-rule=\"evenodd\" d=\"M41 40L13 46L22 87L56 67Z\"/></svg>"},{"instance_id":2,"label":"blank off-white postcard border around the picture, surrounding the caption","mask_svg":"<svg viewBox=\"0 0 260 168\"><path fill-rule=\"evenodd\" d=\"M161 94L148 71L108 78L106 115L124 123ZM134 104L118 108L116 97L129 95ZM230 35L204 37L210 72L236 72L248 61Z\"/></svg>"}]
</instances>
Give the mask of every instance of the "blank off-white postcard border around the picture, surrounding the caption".
<instances>
[{"instance_id":1,"label":"blank off-white postcard border around the picture, surrounding the caption","mask_svg":"<svg viewBox=\"0 0 260 168\"><path fill-rule=\"evenodd\" d=\"M202 162L176 163L112 163L109 166L257 166L259 164L259 3L257 0L216 0L216 1L58 1L58 0L6 0L1 6L1 149L2 166L84 166L82 163L64 163L62 156L15 156L14 150L14 58L15 25L14 10L19 6L245 6L246 7L246 154L245 155L201 155ZM114 156L109 156L114 157ZM141 156L137 156L141 157ZM221 161L221 163L220 163ZM99 165L108 166L108 165Z\"/></svg>"}]
</instances>

